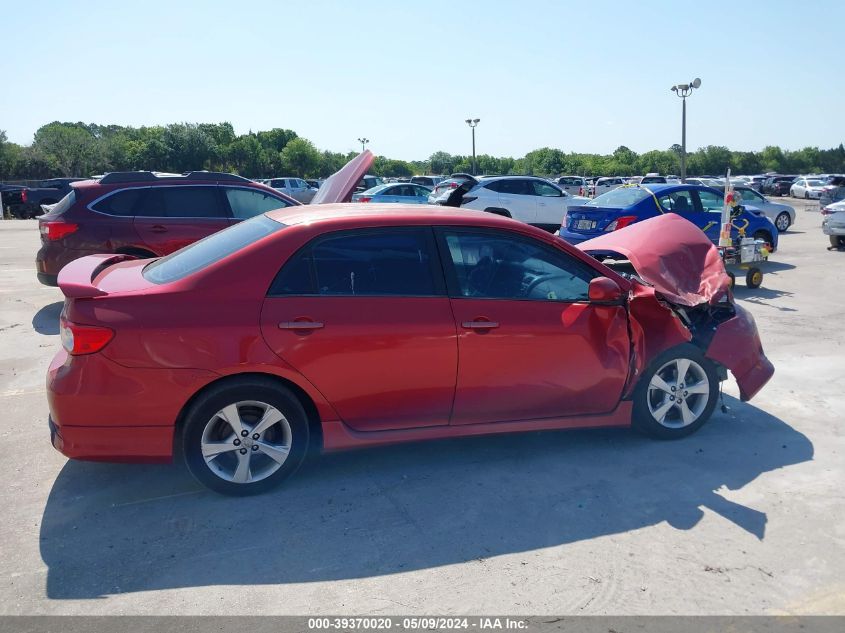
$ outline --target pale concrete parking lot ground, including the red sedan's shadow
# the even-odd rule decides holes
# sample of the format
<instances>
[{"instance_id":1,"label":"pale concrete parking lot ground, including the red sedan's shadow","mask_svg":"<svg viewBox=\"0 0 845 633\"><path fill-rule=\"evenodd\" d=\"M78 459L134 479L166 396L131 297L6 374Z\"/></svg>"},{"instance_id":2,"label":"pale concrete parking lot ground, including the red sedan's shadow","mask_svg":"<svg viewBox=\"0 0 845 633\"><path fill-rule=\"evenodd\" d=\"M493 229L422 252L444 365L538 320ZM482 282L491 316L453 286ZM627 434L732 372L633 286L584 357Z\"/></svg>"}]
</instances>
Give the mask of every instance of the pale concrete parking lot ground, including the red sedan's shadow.
<instances>
[{"instance_id":1,"label":"pale concrete parking lot ground, including the red sedan's shadow","mask_svg":"<svg viewBox=\"0 0 845 633\"><path fill-rule=\"evenodd\" d=\"M845 614L845 253L791 204L762 287L736 289L775 376L751 403L726 383L697 434L350 452L246 499L53 450L62 295L36 222L0 222L0 613Z\"/></svg>"}]
</instances>

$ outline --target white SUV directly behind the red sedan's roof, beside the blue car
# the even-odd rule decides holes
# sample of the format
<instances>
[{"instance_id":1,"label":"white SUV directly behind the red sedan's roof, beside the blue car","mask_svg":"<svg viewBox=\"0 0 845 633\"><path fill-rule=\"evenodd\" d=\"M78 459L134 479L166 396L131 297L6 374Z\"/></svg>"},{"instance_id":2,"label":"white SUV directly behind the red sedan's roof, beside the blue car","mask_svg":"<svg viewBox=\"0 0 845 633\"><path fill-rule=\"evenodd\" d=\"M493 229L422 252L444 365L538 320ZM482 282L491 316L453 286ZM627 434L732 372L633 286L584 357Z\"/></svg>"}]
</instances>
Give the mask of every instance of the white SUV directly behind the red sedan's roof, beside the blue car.
<instances>
[{"instance_id":1,"label":"white SUV directly behind the red sedan's roof, beside the blue car","mask_svg":"<svg viewBox=\"0 0 845 633\"><path fill-rule=\"evenodd\" d=\"M573 196L542 178L492 176L465 178L457 188L445 190L434 202L496 213L554 232L569 205L584 204L589 198Z\"/></svg>"}]
</instances>

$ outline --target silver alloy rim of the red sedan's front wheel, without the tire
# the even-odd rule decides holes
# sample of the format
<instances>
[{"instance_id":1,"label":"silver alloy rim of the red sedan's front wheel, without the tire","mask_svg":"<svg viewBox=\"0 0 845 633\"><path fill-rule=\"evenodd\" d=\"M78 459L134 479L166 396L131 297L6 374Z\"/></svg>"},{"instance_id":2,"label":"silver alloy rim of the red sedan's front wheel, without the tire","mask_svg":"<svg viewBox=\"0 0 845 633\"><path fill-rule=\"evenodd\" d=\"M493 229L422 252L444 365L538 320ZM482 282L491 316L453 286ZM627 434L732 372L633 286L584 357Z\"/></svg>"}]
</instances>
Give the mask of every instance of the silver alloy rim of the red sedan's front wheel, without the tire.
<instances>
[{"instance_id":1,"label":"silver alloy rim of the red sedan's front wheel, without the tire","mask_svg":"<svg viewBox=\"0 0 845 633\"><path fill-rule=\"evenodd\" d=\"M694 424L710 399L704 368L689 358L675 358L658 369L648 385L648 409L655 421L670 429Z\"/></svg>"}]
</instances>

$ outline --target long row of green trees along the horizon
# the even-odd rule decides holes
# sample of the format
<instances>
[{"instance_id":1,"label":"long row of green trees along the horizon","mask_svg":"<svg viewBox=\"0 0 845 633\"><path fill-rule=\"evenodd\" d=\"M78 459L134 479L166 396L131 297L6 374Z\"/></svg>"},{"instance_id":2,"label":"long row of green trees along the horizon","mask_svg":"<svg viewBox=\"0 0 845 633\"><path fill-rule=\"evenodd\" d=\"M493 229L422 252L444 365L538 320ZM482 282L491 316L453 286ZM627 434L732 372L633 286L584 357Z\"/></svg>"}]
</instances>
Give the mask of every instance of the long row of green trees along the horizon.
<instances>
[{"instance_id":1,"label":"long row of green trees along the horizon","mask_svg":"<svg viewBox=\"0 0 845 633\"><path fill-rule=\"evenodd\" d=\"M543 147L522 158L481 154L477 167L481 174L678 174L680 152L679 145L643 154L622 145L606 155ZM31 145L11 143L0 130L0 181L136 169L175 173L208 169L248 178L320 178L340 169L354 155L355 152L321 151L296 132L283 128L238 135L230 123L130 127L56 121L39 128ZM728 167L734 174L845 173L845 147L840 143L831 149L805 147L790 151L768 146L759 152L742 152L709 145L687 154L687 173L691 176L721 175ZM419 161L377 156L371 169L377 176L400 177L471 170L471 156L442 151Z\"/></svg>"}]
</instances>

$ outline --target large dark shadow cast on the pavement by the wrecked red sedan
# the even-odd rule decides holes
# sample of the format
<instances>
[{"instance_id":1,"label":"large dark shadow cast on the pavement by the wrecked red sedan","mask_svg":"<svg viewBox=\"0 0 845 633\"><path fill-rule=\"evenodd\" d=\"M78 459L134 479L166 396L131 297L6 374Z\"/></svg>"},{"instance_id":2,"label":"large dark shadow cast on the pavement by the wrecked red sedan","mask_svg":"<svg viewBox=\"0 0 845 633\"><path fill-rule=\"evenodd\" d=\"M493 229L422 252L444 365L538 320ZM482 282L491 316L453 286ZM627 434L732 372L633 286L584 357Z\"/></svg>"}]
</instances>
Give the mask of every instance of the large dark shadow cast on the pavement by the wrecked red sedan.
<instances>
[{"instance_id":1,"label":"large dark shadow cast on the pavement by the wrecked red sedan","mask_svg":"<svg viewBox=\"0 0 845 633\"><path fill-rule=\"evenodd\" d=\"M765 513L731 501L813 458L788 424L726 397L695 435L628 429L500 435L327 455L278 490L228 498L179 465L68 462L41 524L48 597L395 574L528 552L704 509L754 538ZM690 536L690 538L695 538Z\"/></svg>"}]
</instances>

